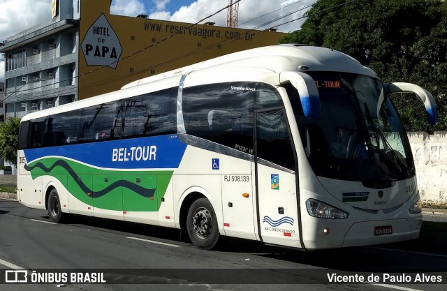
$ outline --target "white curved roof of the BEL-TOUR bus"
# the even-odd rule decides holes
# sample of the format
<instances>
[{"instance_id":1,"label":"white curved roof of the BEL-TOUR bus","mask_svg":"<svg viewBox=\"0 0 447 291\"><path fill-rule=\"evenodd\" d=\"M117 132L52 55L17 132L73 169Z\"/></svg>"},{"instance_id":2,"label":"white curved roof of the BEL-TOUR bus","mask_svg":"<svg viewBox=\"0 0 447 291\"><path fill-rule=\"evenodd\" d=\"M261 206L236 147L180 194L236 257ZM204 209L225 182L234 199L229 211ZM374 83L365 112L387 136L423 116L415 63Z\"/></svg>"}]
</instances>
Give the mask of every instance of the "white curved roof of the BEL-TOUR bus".
<instances>
[{"instance_id":1,"label":"white curved roof of the BEL-TOUR bus","mask_svg":"<svg viewBox=\"0 0 447 291\"><path fill-rule=\"evenodd\" d=\"M52 114L77 110L83 107L112 102L122 98L142 94L141 86L145 87L145 93L177 87L182 75L187 75L193 71L207 70L229 70L242 71L247 69L264 69L272 73L286 71L335 71L356 73L376 77L373 70L362 66L356 59L349 55L325 47L314 47L310 45L271 45L257 47L251 50L226 54L221 57L202 61L197 64L170 70L166 73L145 77L124 85L121 90L112 91L99 96L79 100L66 105L60 105L37 112L31 112L22 118L22 121L46 117ZM247 70L248 72L249 70ZM210 74L211 75L211 74Z\"/></svg>"}]
</instances>

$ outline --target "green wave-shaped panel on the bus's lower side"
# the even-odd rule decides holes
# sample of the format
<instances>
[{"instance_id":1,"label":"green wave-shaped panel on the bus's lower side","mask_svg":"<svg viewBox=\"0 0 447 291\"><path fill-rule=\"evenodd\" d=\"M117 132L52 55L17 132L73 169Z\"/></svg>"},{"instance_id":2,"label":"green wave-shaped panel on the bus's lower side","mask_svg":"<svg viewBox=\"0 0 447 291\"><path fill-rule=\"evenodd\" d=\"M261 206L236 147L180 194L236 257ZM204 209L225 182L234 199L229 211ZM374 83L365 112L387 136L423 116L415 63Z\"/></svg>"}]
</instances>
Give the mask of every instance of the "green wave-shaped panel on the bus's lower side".
<instances>
[{"instance_id":1,"label":"green wave-shaped panel on the bus's lower side","mask_svg":"<svg viewBox=\"0 0 447 291\"><path fill-rule=\"evenodd\" d=\"M173 171L104 170L64 158L43 158L26 166L31 177L51 176L78 200L117 211L158 211Z\"/></svg>"}]
</instances>

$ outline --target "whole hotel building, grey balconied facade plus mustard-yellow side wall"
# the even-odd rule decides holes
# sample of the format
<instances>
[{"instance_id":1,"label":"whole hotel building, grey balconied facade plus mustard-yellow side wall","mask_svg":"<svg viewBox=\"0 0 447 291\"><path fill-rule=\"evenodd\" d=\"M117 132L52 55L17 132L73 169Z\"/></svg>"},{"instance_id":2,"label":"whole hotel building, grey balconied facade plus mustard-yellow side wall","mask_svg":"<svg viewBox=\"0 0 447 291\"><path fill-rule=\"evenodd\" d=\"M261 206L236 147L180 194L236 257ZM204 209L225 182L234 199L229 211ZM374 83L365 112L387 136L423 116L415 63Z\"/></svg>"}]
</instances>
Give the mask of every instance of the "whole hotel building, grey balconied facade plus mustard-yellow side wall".
<instances>
[{"instance_id":1,"label":"whole hotel building, grey balconied facade plus mustard-yellow side wall","mask_svg":"<svg viewBox=\"0 0 447 291\"><path fill-rule=\"evenodd\" d=\"M118 90L223 54L274 45L286 36L211 22L191 27L142 14L112 15L111 3L52 0L46 23L0 43L6 59L5 119Z\"/></svg>"}]
</instances>

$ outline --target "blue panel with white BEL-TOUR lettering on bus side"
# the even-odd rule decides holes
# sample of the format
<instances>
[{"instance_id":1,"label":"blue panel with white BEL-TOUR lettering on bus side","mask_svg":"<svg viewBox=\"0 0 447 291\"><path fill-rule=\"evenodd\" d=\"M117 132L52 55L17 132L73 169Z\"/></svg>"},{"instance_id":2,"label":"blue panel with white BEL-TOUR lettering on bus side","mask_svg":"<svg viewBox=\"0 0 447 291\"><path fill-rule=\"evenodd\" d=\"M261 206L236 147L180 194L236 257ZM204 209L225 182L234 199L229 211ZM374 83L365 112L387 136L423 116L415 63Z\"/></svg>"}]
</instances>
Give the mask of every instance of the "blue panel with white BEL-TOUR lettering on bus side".
<instances>
[{"instance_id":1,"label":"blue panel with white BEL-TOUR lettering on bus side","mask_svg":"<svg viewBox=\"0 0 447 291\"><path fill-rule=\"evenodd\" d=\"M177 168L186 144L177 135L139 137L107 142L88 142L57 147L25 149L27 163L47 156L109 169Z\"/></svg>"}]
</instances>

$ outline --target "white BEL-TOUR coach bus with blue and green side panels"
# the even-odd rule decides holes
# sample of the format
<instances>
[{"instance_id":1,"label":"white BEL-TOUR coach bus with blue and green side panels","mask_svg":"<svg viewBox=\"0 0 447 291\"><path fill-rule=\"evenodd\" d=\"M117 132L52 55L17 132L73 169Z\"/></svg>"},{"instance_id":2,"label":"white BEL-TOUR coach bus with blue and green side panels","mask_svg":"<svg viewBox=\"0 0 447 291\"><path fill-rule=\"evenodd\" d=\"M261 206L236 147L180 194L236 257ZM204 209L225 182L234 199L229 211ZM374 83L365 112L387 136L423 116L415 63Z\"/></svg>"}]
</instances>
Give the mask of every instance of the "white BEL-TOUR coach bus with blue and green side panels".
<instances>
[{"instance_id":1,"label":"white BEL-TOUR coach bus with blue and green side panels","mask_svg":"<svg viewBox=\"0 0 447 291\"><path fill-rule=\"evenodd\" d=\"M314 250L415 239L410 144L382 84L323 47L228 54L27 114L17 195L50 219L82 214Z\"/></svg>"}]
</instances>

